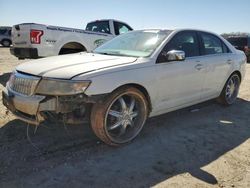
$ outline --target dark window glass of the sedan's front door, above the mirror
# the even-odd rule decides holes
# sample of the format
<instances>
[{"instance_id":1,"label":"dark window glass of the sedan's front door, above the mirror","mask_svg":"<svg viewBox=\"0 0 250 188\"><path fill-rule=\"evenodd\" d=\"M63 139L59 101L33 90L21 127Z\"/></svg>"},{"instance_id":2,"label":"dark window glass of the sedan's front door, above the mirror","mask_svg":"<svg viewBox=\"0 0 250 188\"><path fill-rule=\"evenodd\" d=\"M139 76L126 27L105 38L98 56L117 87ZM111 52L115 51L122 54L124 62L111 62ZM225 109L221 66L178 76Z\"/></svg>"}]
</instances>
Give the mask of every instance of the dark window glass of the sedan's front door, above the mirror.
<instances>
[{"instance_id":1,"label":"dark window glass of the sedan's front door, above the mirror","mask_svg":"<svg viewBox=\"0 0 250 188\"><path fill-rule=\"evenodd\" d=\"M176 34L164 47L164 51L182 50L186 57L199 56L198 39L195 32L185 31Z\"/></svg>"}]
</instances>

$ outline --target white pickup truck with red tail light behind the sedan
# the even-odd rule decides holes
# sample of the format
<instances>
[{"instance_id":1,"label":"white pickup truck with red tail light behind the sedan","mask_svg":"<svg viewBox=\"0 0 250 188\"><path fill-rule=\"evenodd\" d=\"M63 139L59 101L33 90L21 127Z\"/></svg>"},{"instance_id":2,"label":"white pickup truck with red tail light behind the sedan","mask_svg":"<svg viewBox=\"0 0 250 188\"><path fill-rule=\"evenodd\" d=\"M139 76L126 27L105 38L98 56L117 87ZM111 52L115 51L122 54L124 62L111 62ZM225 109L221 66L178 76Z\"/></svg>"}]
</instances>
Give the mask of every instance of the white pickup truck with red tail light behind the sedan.
<instances>
[{"instance_id":1,"label":"white pickup truck with red tail light behind the sedan","mask_svg":"<svg viewBox=\"0 0 250 188\"><path fill-rule=\"evenodd\" d=\"M121 21L106 19L89 22L85 30L23 23L12 27L11 54L19 59L92 51L132 28Z\"/></svg>"}]
</instances>

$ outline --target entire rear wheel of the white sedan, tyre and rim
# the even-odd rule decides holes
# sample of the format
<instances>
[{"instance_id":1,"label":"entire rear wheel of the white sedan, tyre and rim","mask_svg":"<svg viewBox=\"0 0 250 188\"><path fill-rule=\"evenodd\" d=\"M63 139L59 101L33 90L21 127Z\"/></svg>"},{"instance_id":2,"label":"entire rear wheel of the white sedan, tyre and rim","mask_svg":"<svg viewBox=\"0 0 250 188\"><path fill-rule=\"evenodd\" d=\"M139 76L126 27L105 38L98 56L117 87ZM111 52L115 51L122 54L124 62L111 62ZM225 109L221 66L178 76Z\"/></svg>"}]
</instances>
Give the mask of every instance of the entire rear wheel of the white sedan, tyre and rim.
<instances>
[{"instance_id":1,"label":"entire rear wheel of the white sedan, tyre and rim","mask_svg":"<svg viewBox=\"0 0 250 188\"><path fill-rule=\"evenodd\" d=\"M239 88L240 88L240 77L238 74L234 73L227 80L218 98L218 102L227 106L233 104L237 99Z\"/></svg>"}]
</instances>

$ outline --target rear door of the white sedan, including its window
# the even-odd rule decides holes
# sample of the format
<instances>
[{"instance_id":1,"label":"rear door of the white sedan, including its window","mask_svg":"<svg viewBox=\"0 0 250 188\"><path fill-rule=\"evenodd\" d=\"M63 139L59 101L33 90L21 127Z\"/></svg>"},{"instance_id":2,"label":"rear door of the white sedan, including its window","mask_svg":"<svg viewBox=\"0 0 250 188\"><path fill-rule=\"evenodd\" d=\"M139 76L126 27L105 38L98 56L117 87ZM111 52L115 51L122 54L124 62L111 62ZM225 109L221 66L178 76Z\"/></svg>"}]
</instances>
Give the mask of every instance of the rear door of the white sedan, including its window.
<instances>
[{"instance_id":1,"label":"rear door of the white sedan, including its window","mask_svg":"<svg viewBox=\"0 0 250 188\"><path fill-rule=\"evenodd\" d=\"M227 80L234 61L233 54L216 35L199 32L202 62L207 73L202 89L202 98L217 97Z\"/></svg>"}]
</instances>

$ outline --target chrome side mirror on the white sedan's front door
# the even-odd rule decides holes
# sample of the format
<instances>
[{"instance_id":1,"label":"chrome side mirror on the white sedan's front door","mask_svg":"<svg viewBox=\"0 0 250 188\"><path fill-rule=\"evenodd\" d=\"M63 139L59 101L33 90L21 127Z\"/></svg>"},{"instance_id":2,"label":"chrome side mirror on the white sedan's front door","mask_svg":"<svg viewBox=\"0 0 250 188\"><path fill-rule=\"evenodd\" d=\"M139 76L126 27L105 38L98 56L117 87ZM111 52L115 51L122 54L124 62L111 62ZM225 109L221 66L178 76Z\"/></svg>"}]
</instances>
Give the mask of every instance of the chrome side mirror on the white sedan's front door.
<instances>
[{"instance_id":1,"label":"chrome side mirror on the white sedan's front door","mask_svg":"<svg viewBox=\"0 0 250 188\"><path fill-rule=\"evenodd\" d=\"M170 62L170 61L184 61L185 60L185 52L181 50L171 50L171 51L163 51L158 57L157 62Z\"/></svg>"}]
</instances>

